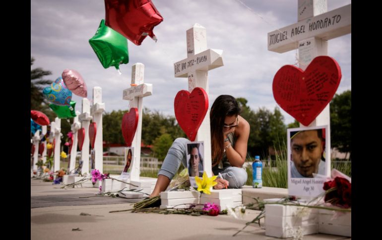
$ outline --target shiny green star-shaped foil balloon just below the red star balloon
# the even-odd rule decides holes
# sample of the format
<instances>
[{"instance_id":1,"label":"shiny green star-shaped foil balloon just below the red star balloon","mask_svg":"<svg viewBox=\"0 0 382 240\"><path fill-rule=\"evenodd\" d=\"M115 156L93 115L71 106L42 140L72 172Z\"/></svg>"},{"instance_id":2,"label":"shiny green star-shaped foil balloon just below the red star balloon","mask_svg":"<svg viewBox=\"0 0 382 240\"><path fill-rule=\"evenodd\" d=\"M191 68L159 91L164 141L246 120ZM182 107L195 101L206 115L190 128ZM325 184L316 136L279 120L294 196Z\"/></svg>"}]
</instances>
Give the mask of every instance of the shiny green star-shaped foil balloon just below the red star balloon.
<instances>
[{"instance_id":1,"label":"shiny green star-shaped foil balloon just below the red star balloon","mask_svg":"<svg viewBox=\"0 0 382 240\"><path fill-rule=\"evenodd\" d=\"M127 39L106 26L104 19L89 44L104 68L115 66L118 70L120 64L128 63Z\"/></svg>"}]
</instances>

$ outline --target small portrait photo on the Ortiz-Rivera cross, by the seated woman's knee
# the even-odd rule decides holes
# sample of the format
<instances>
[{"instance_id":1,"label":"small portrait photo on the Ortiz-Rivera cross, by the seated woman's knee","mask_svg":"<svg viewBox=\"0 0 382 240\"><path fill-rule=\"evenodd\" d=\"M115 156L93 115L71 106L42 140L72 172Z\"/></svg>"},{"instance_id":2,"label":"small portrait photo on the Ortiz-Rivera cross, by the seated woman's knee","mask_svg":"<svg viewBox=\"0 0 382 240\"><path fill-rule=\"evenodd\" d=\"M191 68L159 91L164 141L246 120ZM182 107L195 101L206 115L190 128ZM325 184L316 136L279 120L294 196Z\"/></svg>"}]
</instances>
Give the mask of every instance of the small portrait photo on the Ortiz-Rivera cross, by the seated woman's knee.
<instances>
[{"instance_id":1,"label":"small portrait photo on the Ortiz-Rivera cross, by the seated woman's knee","mask_svg":"<svg viewBox=\"0 0 382 240\"><path fill-rule=\"evenodd\" d=\"M187 167L191 187L197 188L195 177L203 177L204 142L187 144Z\"/></svg>"}]
</instances>

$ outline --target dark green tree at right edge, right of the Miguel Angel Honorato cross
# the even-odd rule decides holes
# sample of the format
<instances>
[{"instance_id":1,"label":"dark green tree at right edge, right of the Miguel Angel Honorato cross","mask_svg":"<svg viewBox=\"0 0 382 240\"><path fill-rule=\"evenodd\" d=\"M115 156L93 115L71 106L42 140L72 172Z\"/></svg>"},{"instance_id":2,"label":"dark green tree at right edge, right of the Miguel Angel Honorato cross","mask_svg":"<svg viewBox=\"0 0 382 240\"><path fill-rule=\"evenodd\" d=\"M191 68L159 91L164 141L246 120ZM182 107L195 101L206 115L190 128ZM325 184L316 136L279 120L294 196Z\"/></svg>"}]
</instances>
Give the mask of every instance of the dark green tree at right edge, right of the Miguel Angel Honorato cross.
<instances>
[{"instance_id":1,"label":"dark green tree at right edge, right of the Miguel Angel Honorato cross","mask_svg":"<svg viewBox=\"0 0 382 240\"><path fill-rule=\"evenodd\" d=\"M351 158L351 90L335 95L330 101L330 143Z\"/></svg>"}]
</instances>

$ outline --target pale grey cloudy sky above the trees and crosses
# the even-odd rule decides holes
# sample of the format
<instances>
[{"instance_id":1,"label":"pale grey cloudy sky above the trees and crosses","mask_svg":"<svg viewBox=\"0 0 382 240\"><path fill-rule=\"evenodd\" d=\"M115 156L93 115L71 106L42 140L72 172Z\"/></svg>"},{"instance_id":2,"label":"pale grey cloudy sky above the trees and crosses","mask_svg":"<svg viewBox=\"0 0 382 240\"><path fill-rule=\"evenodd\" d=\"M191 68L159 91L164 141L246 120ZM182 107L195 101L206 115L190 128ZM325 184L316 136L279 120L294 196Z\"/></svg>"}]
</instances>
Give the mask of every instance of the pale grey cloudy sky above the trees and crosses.
<instances>
[{"instance_id":1,"label":"pale grey cloudy sky above the trees and crosses","mask_svg":"<svg viewBox=\"0 0 382 240\"><path fill-rule=\"evenodd\" d=\"M103 91L106 111L127 109L123 90L130 87L131 66L145 65L145 83L153 95L144 106L174 115L174 97L188 90L187 78L175 78L173 64L187 57L186 31L198 23L207 29L207 48L223 50L224 66L208 72L210 105L222 94L245 97L257 110L273 111L277 105L272 80L279 68L295 64L297 50L276 53L267 50L267 33L297 22L297 0L152 0L164 21L154 28L155 43L147 37L140 46L128 42L129 63L104 69L88 40L105 18L103 0L31 0L31 68L52 71L55 80L65 68L77 70L92 98L93 87ZM243 5L246 4L249 8ZM351 0L328 0L328 11ZM337 60L342 80L337 94L351 89L351 34L333 39L328 55ZM76 110L81 97L73 95ZM293 118L281 109L285 123Z\"/></svg>"}]
</instances>

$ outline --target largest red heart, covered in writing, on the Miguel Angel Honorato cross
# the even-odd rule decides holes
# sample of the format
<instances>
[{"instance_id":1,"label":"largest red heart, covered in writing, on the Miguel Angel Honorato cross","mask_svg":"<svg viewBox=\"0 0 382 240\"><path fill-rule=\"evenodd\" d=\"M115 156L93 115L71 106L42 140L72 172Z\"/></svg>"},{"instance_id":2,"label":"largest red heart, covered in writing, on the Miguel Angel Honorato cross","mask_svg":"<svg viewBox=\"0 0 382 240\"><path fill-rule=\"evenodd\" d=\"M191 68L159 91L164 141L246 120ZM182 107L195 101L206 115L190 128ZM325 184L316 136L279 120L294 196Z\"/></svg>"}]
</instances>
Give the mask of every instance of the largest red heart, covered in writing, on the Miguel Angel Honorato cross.
<instances>
[{"instance_id":1,"label":"largest red heart, covered in writing, on the Miguel Angel Honorato cross","mask_svg":"<svg viewBox=\"0 0 382 240\"><path fill-rule=\"evenodd\" d=\"M341 77L338 63L329 56L316 57L305 71L285 65L273 78L273 96L282 109L308 126L333 98Z\"/></svg>"}]
</instances>

